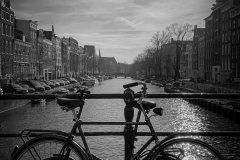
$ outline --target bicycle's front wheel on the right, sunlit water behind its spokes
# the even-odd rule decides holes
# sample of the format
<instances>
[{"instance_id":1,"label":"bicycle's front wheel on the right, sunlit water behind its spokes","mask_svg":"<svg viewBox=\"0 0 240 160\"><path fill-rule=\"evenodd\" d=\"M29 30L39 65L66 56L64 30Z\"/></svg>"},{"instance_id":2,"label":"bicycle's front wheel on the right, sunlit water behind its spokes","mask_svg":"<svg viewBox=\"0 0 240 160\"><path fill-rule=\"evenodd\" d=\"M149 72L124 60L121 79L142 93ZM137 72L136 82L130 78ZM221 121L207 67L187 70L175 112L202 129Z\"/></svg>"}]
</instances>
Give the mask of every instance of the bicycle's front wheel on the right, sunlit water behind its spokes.
<instances>
[{"instance_id":1,"label":"bicycle's front wheel on the right, sunlit water behind its spokes","mask_svg":"<svg viewBox=\"0 0 240 160\"><path fill-rule=\"evenodd\" d=\"M223 156L209 144L191 138L177 138L166 141L160 146L156 145L149 153L149 160L224 160Z\"/></svg>"}]
</instances>

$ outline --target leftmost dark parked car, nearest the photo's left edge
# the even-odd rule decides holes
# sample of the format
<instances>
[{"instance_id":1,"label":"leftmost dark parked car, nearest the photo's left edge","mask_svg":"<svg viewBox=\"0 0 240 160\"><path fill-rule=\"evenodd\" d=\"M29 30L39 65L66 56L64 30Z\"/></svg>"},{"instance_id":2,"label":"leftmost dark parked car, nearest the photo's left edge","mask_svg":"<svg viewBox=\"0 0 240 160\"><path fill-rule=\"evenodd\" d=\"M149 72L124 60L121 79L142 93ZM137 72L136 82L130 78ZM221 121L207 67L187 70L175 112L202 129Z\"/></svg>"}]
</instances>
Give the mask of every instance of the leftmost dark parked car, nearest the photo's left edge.
<instances>
[{"instance_id":1,"label":"leftmost dark parked car, nearest the photo's left edge","mask_svg":"<svg viewBox=\"0 0 240 160\"><path fill-rule=\"evenodd\" d=\"M28 90L22 88L18 84L4 84L2 86L3 93L12 93L12 94L27 94Z\"/></svg>"}]
</instances>

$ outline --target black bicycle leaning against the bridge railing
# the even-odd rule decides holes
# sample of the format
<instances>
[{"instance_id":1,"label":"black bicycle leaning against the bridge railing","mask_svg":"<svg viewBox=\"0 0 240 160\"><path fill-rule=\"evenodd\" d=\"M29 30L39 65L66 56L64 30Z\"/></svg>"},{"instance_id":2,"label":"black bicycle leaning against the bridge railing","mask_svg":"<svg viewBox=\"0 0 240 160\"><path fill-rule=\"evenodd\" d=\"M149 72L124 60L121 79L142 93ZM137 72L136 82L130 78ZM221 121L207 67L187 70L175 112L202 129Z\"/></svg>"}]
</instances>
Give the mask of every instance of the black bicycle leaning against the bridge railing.
<instances>
[{"instance_id":1,"label":"black bicycle leaning against the bridge railing","mask_svg":"<svg viewBox=\"0 0 240 160\"><path fill-rule=\"evenodd\" d=\"M138 100L134 98L134 92L131 87L143 85L142 91L139 92L140 97ZM160 141L151 124L150 118L155 115L162 115L162 109L156 108L156 103L152 101L144 101L147 95L147 87L145 83L135 82L126 84L124 89L124 101L126 103L125 113L127 115L125 125L134 125L133 134L130 139L130 147L128 148L125 160L223 160L222 155L209 144L197 139L179 138L176 135L171 135ZM65 111L72 111L74 116L74 125L70 133L61 131L49 130L23 130L22 140L24 144L15 149L12 160L28 160L28 159L41 159L41 160L101 160L100 158L91 154L81 128L82 122L81 113L84 106L86 94L89 91L86 89L79 90L79 98L72 99L67 95L63 98L58 98L57 103ZM75 109L79 107L79 111ZM136 122L130 122L133 114L133 108L138 109ZM150 110L153 110L155 115L148 116ZM140 116L143 113L145 122L140 122ZM134 142L138 125L147 125L151 131L151 138L136 152L134 153ZM78 132L77 132L78 131ZM31 135L42 133L42 135L30 139ZM74 140L74 136L79 134L81 136L83 146ZM27 141L24 140L27 138ZM155 146L151 150L147 147L155 141Z\"/></svg>"}]
</instances>

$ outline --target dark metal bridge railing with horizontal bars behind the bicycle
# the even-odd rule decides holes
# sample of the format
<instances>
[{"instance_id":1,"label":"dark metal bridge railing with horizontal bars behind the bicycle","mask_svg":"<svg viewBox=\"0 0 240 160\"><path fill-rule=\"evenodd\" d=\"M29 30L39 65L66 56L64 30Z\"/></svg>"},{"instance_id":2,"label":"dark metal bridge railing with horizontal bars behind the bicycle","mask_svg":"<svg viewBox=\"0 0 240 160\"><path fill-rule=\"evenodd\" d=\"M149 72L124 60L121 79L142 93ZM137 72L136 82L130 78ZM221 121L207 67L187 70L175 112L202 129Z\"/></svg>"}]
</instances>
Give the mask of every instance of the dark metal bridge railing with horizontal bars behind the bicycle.
<instances>
[{"instance_id":1,"label":"dark metal bridge railing with horizontal bars behind the bicycle","mask_svg":"<svg viewBox=\"0 0 240 160\"><path fill-rule=\"evenodd\" d=\"M56 94L17 94L17 95L0 95L0 100L21 100L21 99L56 99L61 95ZM78 98L77 94L68 94L70 98ZM140 97L139 94L135 94L135 97ZM161 94L148 94L147 98L183 98L187 100L199 100L199 99L239 99L240 94L223 94L223 93L161 93ZM123 94L90 94L86 95L86 99L123 99ZM207 105L204 102L200 104ZM240 122L240 110L236 112L235 117L239 118ZM133 122L131 122L133 123ZM129 122L82 122L83 125L130 125ZM144 123L143 123L144 124ZM142 125L143 125L142 124ZM141 124L140 124L141 125ZM84 132L85 136L124 136L131 137L126 132ZM207 132L157 132L158 136L233 136L239 137L240 131L207 131ZM40 134L32 134L32 137L39 136ZM136 136L151 136L150 132L138 132ZM21 137L20 133L8 133L0 134L0 138L16 138ZM127 155L127 149L129 144L125 142L125 155Z\"/></svg>"}]
</instances>

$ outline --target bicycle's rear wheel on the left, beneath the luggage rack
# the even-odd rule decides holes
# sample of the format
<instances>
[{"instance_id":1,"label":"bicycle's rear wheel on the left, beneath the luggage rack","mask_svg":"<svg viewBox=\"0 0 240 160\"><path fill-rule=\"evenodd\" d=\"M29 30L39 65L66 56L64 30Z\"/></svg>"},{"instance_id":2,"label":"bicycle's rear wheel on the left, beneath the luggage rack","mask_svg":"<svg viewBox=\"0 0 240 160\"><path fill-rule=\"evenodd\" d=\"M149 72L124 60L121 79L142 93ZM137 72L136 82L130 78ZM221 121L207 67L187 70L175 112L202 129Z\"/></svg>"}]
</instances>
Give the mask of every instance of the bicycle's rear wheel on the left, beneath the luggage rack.
<instances>
[{"instance_id":1,"label":"bicycle's rear wheel on the left, beneath the luggage rack","mask_svg":"<svg viewBox=\"0 0 240 160\"><path fill-rule=\"evenodd\" d=\"M13 155L12 160L65 160L65 157L58 156L67 138L59 135L46 135L29 140L26 144L33 153L28 150L26 145L22 145ZM71 141L68 145L71 152L68 160L87 160L87 154L84 149L75 141ZM39 158L41 157L41 158Z\"/></svg>"}]
</instances>

